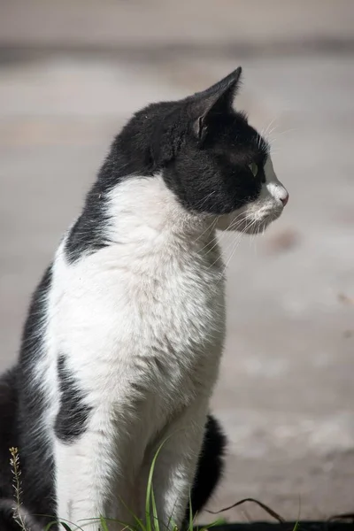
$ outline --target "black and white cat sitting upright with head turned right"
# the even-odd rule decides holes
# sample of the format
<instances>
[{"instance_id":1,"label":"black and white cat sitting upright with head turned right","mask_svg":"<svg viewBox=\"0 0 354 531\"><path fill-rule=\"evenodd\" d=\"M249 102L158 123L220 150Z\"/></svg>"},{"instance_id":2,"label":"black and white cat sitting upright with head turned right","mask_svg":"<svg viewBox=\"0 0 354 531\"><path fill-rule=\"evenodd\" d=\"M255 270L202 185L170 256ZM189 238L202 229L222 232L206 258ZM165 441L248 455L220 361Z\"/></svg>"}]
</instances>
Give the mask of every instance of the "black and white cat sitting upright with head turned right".
<instances>
[{"instance_id":1,"label":"black and white cat sitting upright with head turned right","mask_svg":"<svg viewBox=\"0 0 354 531\"><path fill-rule=\"evenodd\" d=\"M257 234L288 201L233 109L240 74L130 119L35 291L15 374L31 511L36 489L89 531L134 523L165 441L158 518L181 527L225 338L216 229Z\"/></svg>"}]
</instances>

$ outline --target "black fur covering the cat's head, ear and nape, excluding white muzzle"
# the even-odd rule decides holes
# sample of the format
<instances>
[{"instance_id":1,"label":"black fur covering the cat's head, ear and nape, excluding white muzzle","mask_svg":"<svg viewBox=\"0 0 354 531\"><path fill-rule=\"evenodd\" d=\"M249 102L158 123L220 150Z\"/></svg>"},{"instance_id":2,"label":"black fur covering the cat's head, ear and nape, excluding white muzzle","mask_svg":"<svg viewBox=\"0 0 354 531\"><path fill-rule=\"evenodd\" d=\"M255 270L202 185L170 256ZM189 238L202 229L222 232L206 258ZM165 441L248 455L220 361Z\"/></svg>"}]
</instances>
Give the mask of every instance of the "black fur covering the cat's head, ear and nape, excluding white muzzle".
<instances>
[{"instance_id":1,"label":"black fur covering the cat's head, ear and nape, excluding white muzzle","mask_svg":"<svg viewBox=\"0 0 354 531\"><path fill-rule=\"evenodd\" d=\"M233 110L241 68L204 92L136 112L115 138L65 244L69 262L107 242L109 192L132 175L161 173L189 211L233 212L258 198L266 141ZM256 177L250 164L258 165Z\"/></svg>"}]
</instances>

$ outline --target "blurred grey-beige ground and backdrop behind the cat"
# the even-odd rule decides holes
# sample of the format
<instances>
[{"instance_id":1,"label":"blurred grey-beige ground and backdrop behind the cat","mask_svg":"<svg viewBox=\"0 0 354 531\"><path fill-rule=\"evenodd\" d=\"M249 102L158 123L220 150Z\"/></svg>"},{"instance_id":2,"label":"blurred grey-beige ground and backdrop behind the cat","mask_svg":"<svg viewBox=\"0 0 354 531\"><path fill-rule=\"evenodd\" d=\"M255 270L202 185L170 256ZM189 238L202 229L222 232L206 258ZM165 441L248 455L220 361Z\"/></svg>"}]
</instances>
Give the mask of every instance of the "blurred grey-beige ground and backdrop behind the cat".
<instances>
[{"instance_id":1,"label":"blurred grey-beige ground and backdrop behind the cat","mask_svg":"<svg viewBox=\"0 0 354 531\"><path fill-rule=\"evenodd\" d=\"M236 105L290 200L266 236L222 236L213 411L230 443L214 511L248 496L288 519L354 510L353 59L353 0L0 1L1 369L130 113L243 67Z\"/></svg>"}]
</instances>

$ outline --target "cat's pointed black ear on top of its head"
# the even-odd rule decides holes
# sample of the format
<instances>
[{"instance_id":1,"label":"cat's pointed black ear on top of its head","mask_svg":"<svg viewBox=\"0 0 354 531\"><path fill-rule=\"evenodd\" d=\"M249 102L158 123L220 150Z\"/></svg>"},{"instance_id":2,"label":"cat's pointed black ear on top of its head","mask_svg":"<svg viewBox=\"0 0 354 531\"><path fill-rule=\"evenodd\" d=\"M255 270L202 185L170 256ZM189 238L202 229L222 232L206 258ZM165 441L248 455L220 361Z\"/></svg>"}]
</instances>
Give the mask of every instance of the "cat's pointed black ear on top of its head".
<instances>
[{"instance_id":1,"label":"cat's pointed black ear on top of its head","mask_svg":"<svg viewBox=\"0 0 354 531\"><path fill-rule=\"evenodd\" d=\"M198 139L204 139L208 117L212 112L227 112L231 108L240 86L241 73L242 68L239 66L209 89L192 96L193 130Z\"/></svg>"}]
</instances>

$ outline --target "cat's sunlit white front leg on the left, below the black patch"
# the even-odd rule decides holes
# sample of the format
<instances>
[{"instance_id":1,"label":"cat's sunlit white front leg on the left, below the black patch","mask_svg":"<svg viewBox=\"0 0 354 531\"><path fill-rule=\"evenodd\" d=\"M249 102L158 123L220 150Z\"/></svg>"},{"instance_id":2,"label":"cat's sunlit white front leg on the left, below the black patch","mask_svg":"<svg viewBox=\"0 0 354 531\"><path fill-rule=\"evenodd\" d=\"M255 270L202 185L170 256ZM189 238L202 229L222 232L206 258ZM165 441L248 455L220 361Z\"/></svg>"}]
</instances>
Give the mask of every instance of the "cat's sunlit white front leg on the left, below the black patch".
<instances>
[{"instance_id":1,"label":"cat's sunlit white front leg on the left, below the black patch","mask_svg":"<svg viewBox=\"0 0 354 531\"><path fill-rule=\"evenodd\" d=\"M58 521L85 531L98 531L101 516L131 523L130 510L136 511L133 479L137 452L129 451L125 420L107 407L97 407L89 412L80 435L68 438L65 430L57 429ZM109 529L124 527L107 523Z\"/></svg>"}]
</instances>

